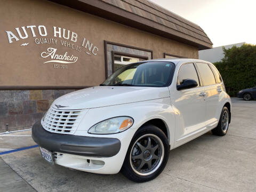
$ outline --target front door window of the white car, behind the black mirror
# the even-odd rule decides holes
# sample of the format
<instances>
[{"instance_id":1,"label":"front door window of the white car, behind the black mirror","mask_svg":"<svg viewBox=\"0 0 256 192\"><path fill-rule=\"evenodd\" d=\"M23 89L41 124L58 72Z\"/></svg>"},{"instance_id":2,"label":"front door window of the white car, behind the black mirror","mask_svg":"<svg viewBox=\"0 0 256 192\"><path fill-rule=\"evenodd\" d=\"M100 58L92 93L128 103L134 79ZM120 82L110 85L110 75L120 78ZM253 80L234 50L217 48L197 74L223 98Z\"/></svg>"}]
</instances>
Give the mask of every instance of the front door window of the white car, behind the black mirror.
<instances>
[{"instance_id":1,"label":"front door window of the white car, behind the black mirror","mask_svg":"<svg viewBox=\"0 0 256 192\"><path fill-rule=\"evenodd\" d=\"M182 84L185 79L194 79L197 82L197 86L199 86L198 75L196 73L195 66L193 63L187 63L182 65L179 70L177 85Z\"/></svg>"}]
</instances>

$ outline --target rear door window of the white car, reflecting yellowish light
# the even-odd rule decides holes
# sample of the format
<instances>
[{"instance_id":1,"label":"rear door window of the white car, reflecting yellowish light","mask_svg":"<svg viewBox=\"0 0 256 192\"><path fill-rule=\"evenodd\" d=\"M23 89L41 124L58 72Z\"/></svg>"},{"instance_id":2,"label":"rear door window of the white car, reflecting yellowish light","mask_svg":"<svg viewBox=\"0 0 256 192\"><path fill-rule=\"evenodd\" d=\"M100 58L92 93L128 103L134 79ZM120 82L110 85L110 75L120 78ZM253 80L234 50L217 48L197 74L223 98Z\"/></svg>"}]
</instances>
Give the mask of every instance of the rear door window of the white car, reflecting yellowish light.
<instances>
[{"instance_id":1,"label":"rear door window of the white car, reflecting yellowish light","mask_svg":"<svg viewBox=\"0 0 256 192\"><path fill-rule=\"evenodd\" d=\"M199 74L202 78L204 86L216 83L211 68L206 63L196 63Z\"/></svg>"}]
</instances>

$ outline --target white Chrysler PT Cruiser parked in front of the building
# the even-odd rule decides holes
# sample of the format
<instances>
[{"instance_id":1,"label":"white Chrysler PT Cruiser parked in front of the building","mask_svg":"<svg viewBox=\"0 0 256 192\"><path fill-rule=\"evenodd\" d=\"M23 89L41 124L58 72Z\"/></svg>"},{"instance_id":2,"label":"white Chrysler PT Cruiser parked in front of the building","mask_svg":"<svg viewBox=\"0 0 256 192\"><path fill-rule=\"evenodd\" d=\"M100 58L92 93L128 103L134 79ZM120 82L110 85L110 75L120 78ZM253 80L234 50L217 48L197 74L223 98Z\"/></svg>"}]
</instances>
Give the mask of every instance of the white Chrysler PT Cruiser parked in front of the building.
<instances>
[{"instance_id":1,"label":"white Chrysler PT Cruiser parked in front of the building","mask_svg":"<svg viewBox=\"0 0 256 192\"><path fill-rule=\"evenodd\" d=\"M196 59L157 59L118 69L100 86L56 99L32 137L51 164L135 181L159 175L174 149L225 135L231 101L218 70Z\"/></svg>"}]
</instances>

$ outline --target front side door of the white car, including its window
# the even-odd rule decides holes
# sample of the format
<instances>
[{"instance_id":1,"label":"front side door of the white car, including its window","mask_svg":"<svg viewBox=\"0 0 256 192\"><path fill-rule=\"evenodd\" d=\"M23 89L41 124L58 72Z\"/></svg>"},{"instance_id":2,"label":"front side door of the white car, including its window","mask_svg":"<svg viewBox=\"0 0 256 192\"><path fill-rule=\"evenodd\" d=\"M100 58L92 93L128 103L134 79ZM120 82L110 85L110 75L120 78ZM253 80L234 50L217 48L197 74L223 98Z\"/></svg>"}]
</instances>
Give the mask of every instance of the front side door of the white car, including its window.
<instances>
[{"instance_id":1,"label":"front side door of the white car, including its window","mask_svg":"<svg viewBox=\"0 0 256 192\"><path fill-rule=\"evenodd\" d=\"M177 117L174 146L182 145L191 138L193 139L195 134L205 127L205 92L193 62L184 63L180 67L177 85L180 85L184 79L194 79L198 86L180 91L173 90L174 98L171 100L175 117Z\"/></svg>"}]
</instances>

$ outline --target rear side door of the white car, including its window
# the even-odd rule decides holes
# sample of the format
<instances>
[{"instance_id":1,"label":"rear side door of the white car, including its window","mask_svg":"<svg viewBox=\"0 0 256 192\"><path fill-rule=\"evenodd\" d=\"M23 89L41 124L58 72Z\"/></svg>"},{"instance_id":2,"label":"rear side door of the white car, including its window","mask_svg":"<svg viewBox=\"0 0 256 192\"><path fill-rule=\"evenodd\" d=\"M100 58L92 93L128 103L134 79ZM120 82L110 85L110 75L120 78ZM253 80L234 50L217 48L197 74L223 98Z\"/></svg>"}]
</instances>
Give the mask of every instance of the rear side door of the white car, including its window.
<instances>
[{"instance_id":1,"label":"rear side door of the white car, including its window","mask_svg":"<svg viewBox=\"0 0 256 192\"><path fill-rule=\"evenodd\" d=\"M206 93L205 124L209 129L214 128L219 121L218 110L222 86L219 81L217 82L217 78L213 73L213 67L211 68L208 63L196 62L196 66Z\"/></svg>"}]
</instances>

